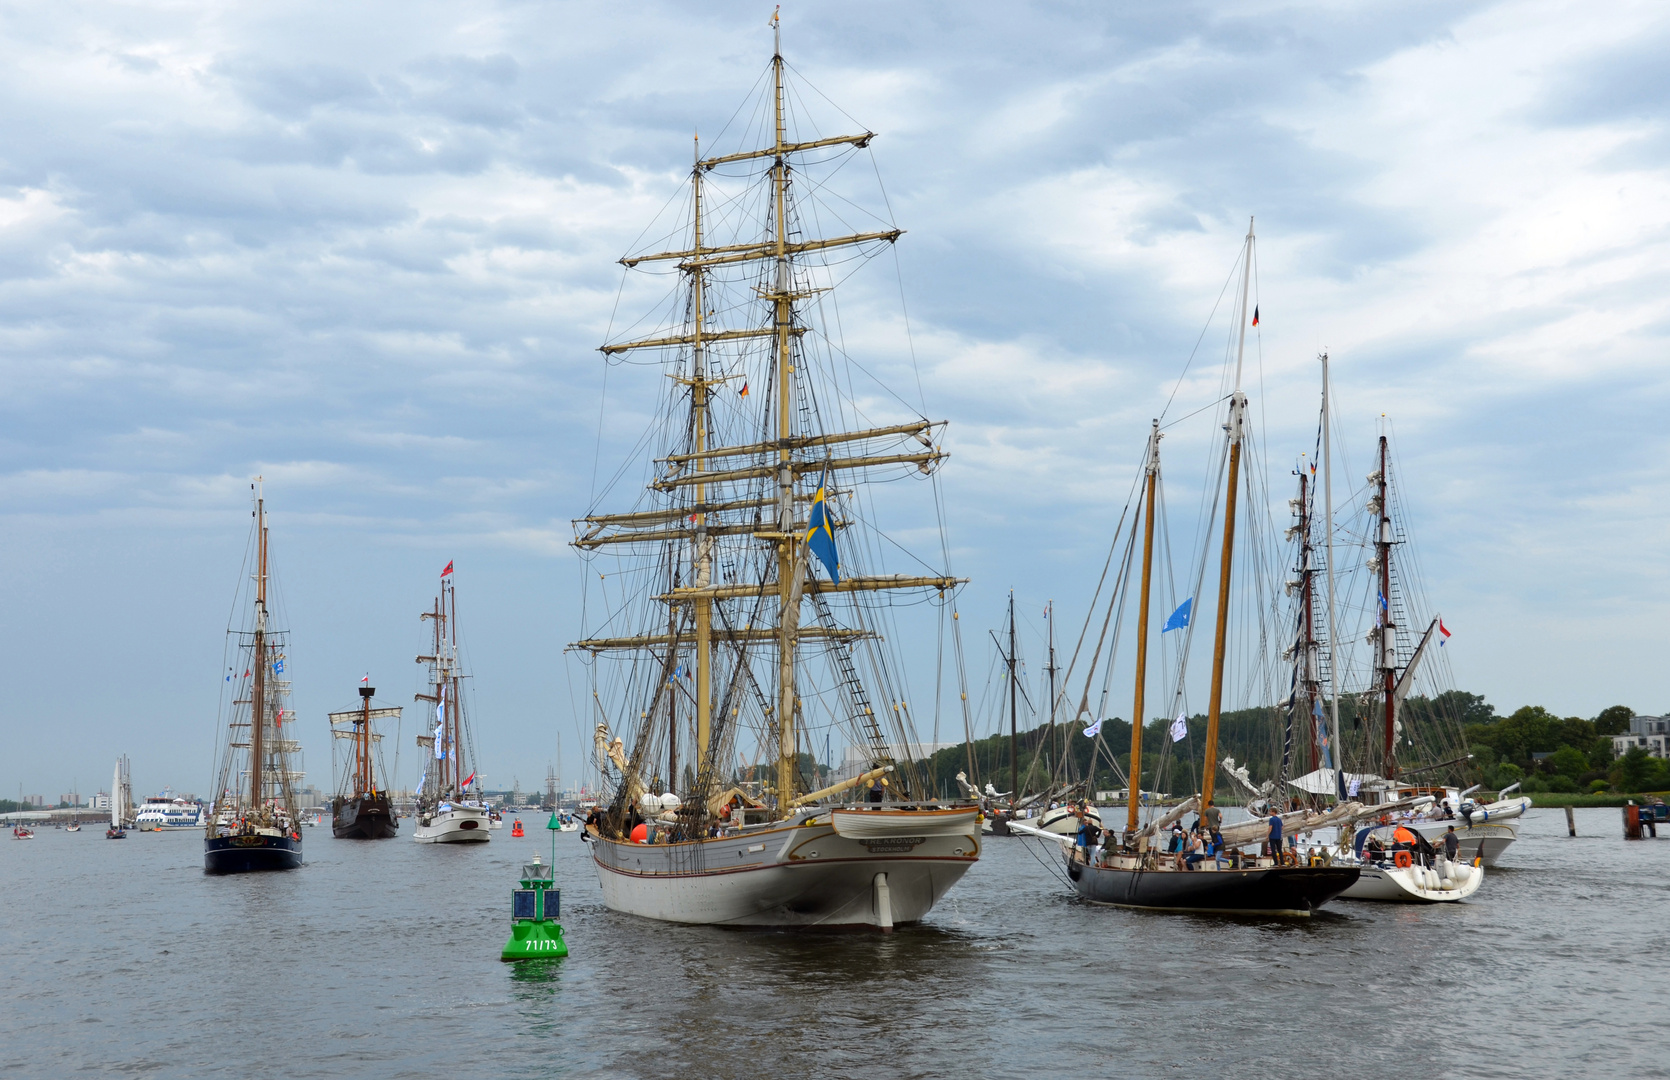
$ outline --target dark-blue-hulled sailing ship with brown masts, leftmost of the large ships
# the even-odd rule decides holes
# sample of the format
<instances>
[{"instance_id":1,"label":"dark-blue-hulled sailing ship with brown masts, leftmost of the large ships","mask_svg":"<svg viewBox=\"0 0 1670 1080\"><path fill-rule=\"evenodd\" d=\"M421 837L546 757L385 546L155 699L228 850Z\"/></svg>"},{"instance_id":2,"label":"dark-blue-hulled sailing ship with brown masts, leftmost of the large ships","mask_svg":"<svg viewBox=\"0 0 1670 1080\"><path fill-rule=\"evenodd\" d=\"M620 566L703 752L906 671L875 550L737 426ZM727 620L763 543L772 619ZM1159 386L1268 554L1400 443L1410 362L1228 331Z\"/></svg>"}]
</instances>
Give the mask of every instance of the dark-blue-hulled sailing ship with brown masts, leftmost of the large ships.
<instances>
[{"instance_id":1,"label":"dark-blue-hulled sailing ship with brown masts, leftmost of the large ships","mask_svg":"<svg viewBox=\"0 0 1670 1080\"><path fill-rule=\"evenodd\" d=\"M222 696L225 743L215 775L215 796L204 836L204 870L247 873L294 870L302 865L301 818L291 754L301 744L286 738L291 683L284 678L289 634L272 629L267 611L267 507L261 477L254 491L254 598L244 629L230 631L237 664L225 673L230 699ZM242 674L239 674L242 671Z\"/></svg>"}]
</instances>

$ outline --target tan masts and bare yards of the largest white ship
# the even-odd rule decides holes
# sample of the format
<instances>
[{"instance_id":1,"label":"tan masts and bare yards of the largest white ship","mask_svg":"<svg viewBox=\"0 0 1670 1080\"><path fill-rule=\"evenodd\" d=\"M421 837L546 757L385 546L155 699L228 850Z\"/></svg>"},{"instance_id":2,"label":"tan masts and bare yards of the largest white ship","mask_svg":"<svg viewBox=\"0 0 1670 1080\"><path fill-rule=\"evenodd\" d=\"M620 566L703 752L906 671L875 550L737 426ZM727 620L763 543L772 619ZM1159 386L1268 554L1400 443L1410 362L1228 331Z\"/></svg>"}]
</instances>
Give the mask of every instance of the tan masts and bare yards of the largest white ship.
<instances>
[{"instance_id":1,"label":"tan masts and bare yards of the largest white ship","mask_svg":"<svg viewBox=\"0 0 1670 1080\"><path fill-rule=\"evenodd\" d=\"M805 539L800 536L800 527L797 527L795 507L797 501L807 502L808 499L807 496L797 496L797 477L807 472L835 476L843 471L867 469L872 466L905 464L917 466L920 472L930 474L932 467L945 457L945 452L934 444L934 429L939 422L927 419L903 424L887 424L863 431L795 431L797 422L793 416L797 402L797 377L803 377L803 372L797 376L795 342L807 332L807 327L797 326L795 300L800 294L797 294L795 257L808 252L828 252L862 244L890 244L902 235L902 230L883 229L835 237L790 235L788 214L792 207L788 185L793 172L793 155L828 147L863 149L875 135L873 132L860 132L855 135L833 135L805 142L790 142L787 112L787 63L782 53L778 20L775 17L772 20L772 140L760 149L740 150L710 159L701 159L698 147L698 159L695 162L695 169L691 170L695 225L693 245L686 250L666 250L621 259L621 264L626 267L638 267L645 262L656 260L676 260L678 269L690 274L690 317L686 326L680 332L670 336L601 346L605 356L618 356L635 349L691 349L693 362L690 377L685 379L683 376L678 376L678 381L691 386L693 417L690 439L693 446L683 452L670 454L661 459L661 464L666 466L666 472L658 476L650 487L663 496L680 492L681 489L690 491L693 487L695 499L678 499L673 506L651 511L590 514L584 519L576 521L576 527L581 534L576 536L574 546L581 549L596 549L605 544L621 543L665 544L673 541L676 544L686 544L691 539L695 541L691 556L695 571L691 574L693 579L675 583L671 589L656 599L676 604L681 609L685 604L690 604L690 609L695 614L696 753L701 761L701 768L711 771L711 758L716 749L711 719L711 674L715 661L713 653L716 648L715 636L721 644L738 649L740 663L746 663L741 659L741 649L748 643L760 643L767 649L775 648L775 659L778 666L775 693L772 688L765 688L770 699L763 703L763 711L767 728L777 741L777 805L780 811L787 811L793 803L793 795L798 786L797 713L800 699L795 684L795 659L803 641L828 641L835 646L838 654L837 663L843 668L843 674L840 678L845 684L847 696L850 698L848 706L852 708L852 719L855 724L868 731L878 760L885 760L887 753L885 739L880 734L873 709L865 699L857 669L853 668L850 658L843 658L840 654L840 649L843 649L847 643L870 638L873 634L867 629L845 629L818 624L802 626L800 603L803 594L808 591L828 594L837 591L870 593L883 589L924 588L944 593L949 588L962 584L962 579L944 574L860 576L840 573L838 581L835 581L833 578L837 578L837 574L832 573L830 581L820 581L807 566ZM715 245L708 235L711 229L703 205L703 177L713 169L740 162L768 162L770 165L770 230L763 237L757 234L755 239L746 242ZM758 290L758 297L772 305L770 320L762 320L763 324L750 327L715 329L706 310L706 290L713 284L706 272L713 267L730 267L750 262L768 262L772 265L772 270L762 275L765 277L765 282L762 282L763 287ZM745 446L715 446L713 417L710 414L713 402L711 389L725 379L736 376L713 376L713 357L710 356L711 347L716 344L765 339L770 339L772 376L768 384L775 384L777 387L775 399L768 399L767 402L768 416L763 424L765 437L758 442ZM888 437L913 437L920 442L920 449L905 447L907 452L877 452L878 447L865 446L873 439ZM855 444L855 452L850 452L848 456L833 456L830 449L827 449L843 444ZM797 459L797 451L810 452L802 454L802 457ZM765 481L768 484L767 491L753 489L753 481ZM736 491L735 486L745 482L750 484L750 489ZM833 491L830 491L830 494L833 494ZM762 511L767 514L763 521L758 517ZM835 527L840 527L842 524L845 522L837 522ZM690 531L686 532L686 529ZM772 556L775 558L768 558L775 563L775 568L772 569L775 569L777 579L772 581L772 569L767 569L767 573L762 574L762 579L757 581L715 583L715 541L716 537L726 536L752 536L755 541L772 544ZM775 598L778 609L777 624L746 624L740 628L721 626L715 629L713 601L748 596ZM653 633L636 633L623 638L591 638L576 643L576 648L583 648L596 654L613 651L638 653L646 648L660 651L658 646L670 644L676 651L681 644L680 636L681 631L675 624L673 628L656 628ZM770 656L770 651L767 656ZM765 659L765 663L770 663L770 659ZM665 693L665 686L658 688L656 693ZM650 716L645 716L645 719L650 719ZM660 723L660 713L655 714L651 723ZM635 768L640 758L641 751L635 753ZM908 770L905 776L908 776Z\"/></svg>"}]
</instances>

